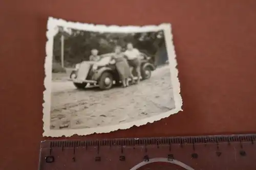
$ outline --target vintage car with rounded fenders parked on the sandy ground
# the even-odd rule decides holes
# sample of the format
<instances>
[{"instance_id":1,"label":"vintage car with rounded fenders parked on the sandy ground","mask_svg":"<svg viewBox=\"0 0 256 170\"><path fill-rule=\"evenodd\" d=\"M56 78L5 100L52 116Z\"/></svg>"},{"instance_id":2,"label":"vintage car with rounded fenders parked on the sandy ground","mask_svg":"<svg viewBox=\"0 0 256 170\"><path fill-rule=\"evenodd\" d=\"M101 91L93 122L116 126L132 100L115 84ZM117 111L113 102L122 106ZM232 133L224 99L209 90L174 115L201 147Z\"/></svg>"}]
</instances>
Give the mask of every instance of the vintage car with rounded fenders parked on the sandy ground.
<instances>
[{"instance_id":1,"label":"vintage car with rounded fenders parked on the sandy ground","mask_svg":"<svg viewBox=\"0 0 256 170\"><path fill-rule=\"evenodd\" d=\"M76 88L85 88L87 85L98 85L102 90L108 90L113 85L119 85L120 78L115 66L111 61L113 53L108 53L100 56L100 60L83 61L76 64L75 69L71 72L70 78L72 79ZM155 70L155 65L151 57L144 53L140 53L141 58L141 79L149 79L151 72ZM133 75L137 77L136 71L133 70Z\"/></svg>"}]
</instances>

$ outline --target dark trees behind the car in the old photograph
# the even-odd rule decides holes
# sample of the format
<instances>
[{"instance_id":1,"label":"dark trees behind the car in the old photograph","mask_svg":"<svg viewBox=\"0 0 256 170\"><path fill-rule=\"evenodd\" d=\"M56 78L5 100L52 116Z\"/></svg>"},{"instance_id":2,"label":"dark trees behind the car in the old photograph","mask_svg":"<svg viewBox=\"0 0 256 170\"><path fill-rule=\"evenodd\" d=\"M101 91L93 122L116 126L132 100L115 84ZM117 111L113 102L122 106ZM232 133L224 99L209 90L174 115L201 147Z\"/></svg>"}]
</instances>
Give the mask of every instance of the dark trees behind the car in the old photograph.
<instances>
[{"instance_id":1,"label":"dark trees behind the car in the old photograph","mask_svg":"<svg viewBox=\"0 0 256 170\"><path fill-rule=\"evenodd\" d=\"M60 28L54 37L54 61L61 63L61 39L65 37L63 53L65 66L72 67L83 60L89 60L92 48L97 48L99 54L111 53L115 45L125 47L132 42L136 48L148 55L156 56L165 46L163 32L148 33L99 33L70 29L67 32ZM159 57L156 57L158 60Z\"/></svg>"}]
</instances>

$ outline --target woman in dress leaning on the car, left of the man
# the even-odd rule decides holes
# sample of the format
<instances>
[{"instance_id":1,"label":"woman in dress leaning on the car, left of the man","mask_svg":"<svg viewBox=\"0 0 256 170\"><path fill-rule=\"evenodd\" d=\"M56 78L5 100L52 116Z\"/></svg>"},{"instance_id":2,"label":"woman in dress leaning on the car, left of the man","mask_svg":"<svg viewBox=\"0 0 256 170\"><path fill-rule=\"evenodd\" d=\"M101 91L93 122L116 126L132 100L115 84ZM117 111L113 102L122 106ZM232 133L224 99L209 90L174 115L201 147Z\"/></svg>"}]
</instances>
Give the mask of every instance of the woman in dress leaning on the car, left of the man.
<instances>
[{"instance_id":1,"label":"woman in dress leaning on the car, left of the man","mask_svg":"<svg viewBox=\"0 0 256 170\"><path fill-rule=\"evenodd\" d=\"M129 78L131 77L131 71L130 66L121 50L121 46L116 46L115 54L112 56L112 59L116 62L116 69L122 81L123 87L127 87L129 86Z\"/></svg>"}]
</instances>

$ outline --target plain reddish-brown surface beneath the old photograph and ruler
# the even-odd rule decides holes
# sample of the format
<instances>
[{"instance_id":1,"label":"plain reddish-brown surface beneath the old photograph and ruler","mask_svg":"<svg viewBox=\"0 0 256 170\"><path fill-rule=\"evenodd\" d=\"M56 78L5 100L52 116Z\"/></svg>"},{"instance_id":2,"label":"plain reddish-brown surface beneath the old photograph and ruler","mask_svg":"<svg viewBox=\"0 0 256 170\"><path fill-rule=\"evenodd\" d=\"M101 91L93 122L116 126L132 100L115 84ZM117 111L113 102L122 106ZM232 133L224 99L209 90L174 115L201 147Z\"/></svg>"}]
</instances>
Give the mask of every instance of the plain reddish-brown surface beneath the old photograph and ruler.
<instances>
[{"instance_id":1,"label":"plain reddish-brown surface beneath the old photograph and ruler","mask_svg":"<svg viewBox=\"0 0 256 170\"><path fill-rule=\"evenodd\" d=\"M2 0L0 169L36 169L48 16L105 25L170 22L183 112L154 124L69 139L256 132L256 1Z\"/></svg>"}]
</instances>

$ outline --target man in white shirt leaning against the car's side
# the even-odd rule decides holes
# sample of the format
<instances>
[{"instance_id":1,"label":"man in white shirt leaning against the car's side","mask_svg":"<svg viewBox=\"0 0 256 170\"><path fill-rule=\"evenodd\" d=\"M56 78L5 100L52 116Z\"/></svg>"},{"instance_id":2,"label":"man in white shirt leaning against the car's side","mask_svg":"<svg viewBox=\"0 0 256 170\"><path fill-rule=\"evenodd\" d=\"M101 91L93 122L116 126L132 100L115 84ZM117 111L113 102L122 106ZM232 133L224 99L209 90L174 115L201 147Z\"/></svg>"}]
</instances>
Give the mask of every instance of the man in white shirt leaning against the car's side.
<instances>
[{"instance_id":1,"label":"man in white shirt leaning against the car's side","mask_svg":"<svg viewBox=\"0 0 256 170\"><path fill-rule=\"evenodd\" d=\"M127 57L127 61L130 65L131 68L131 78L132 82L134 83L134 76L132 74L133 69L136 70L137 75L138 75L138 80L137 83L140 82L140 52L133 47L132 43L127 43L127 50L124 52L124 55Z\"/></svg>"}]
</instances>

